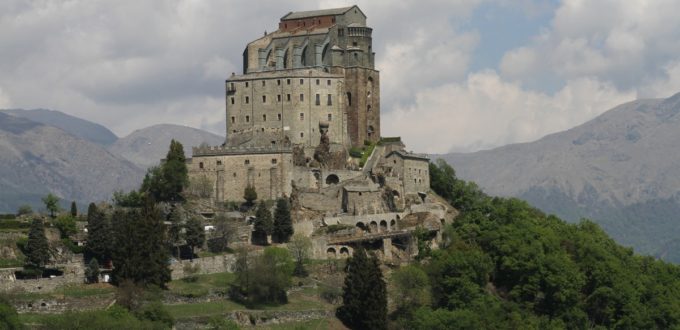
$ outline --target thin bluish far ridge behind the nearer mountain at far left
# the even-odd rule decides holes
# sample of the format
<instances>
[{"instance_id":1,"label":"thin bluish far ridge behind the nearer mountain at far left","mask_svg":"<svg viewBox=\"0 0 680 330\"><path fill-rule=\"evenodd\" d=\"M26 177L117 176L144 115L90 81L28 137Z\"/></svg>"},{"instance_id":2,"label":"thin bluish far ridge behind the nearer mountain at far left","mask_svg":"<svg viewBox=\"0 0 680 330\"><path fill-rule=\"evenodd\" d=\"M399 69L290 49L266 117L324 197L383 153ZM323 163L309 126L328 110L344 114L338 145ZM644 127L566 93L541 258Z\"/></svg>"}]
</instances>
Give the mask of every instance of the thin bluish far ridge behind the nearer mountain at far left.
<instances>
[{"instance_id":1,"label":"thin bluish far ridge behind the nearer mountain at far left","mask_svg":"<svg viewBox=\"0 0 680 330\"><path fill-rule=\"evenodd\" d=\"M55 110L9 109L1 111L16 117L60 128L73 136L104 146L111 145L118 140L118 137L113 132L102 125Z\"/></svg>"}]
</instances>

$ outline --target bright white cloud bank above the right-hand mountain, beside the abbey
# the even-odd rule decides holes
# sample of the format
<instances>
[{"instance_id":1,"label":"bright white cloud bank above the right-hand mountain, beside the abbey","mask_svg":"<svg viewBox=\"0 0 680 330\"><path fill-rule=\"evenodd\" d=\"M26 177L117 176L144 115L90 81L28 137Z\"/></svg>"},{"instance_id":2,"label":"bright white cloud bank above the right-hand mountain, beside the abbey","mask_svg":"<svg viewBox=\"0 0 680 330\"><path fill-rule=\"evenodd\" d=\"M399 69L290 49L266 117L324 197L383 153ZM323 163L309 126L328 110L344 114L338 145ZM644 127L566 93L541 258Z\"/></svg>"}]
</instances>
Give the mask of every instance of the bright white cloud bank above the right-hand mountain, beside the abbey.
<instances>
[{"instance_id":1,"label":"bright white cloud bank above the right-hand mountain, beside the abbey","mask_svg":"<svg viewBox=\"0 0 680 330\"><path fill-rule=\"evenodd\" d=\"M569 129L634 98L591 78L568 81L547 95L483 71L462 84L421 90L414 105L384 117L383 130L422 152L474 151Z\"/></svg>"}]
</instances>

